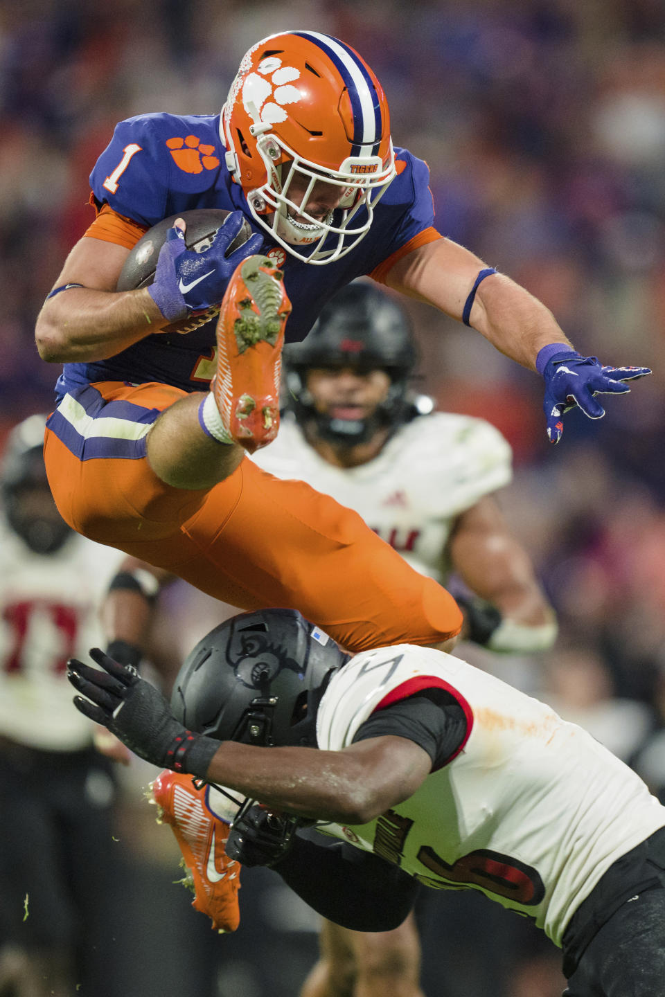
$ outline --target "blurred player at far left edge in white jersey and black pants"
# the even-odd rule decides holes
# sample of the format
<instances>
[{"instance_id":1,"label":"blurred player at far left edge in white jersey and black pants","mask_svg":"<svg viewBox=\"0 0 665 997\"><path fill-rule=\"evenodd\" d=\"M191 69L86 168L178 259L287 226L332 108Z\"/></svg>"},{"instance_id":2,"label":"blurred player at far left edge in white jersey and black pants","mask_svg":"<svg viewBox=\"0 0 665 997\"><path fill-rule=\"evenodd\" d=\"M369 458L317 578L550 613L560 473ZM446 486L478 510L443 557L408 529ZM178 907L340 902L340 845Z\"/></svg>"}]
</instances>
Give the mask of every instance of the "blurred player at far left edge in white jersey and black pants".
<instances>
[{"instance_id":1,"label":"blurred player at far left edge in white jersey and black pants","mask_svg":"<svg viewBox=\"0 0 665 997\"><path fill-rule=\"evenodd\" d=\"M108 987L112 766L72 709L67 659L101 639L121 554L75 533L51 497L44 416L9 435L0 466L0 992ZM106 731L104 732L106 734Z\"/></svg>"}]
</instances>

